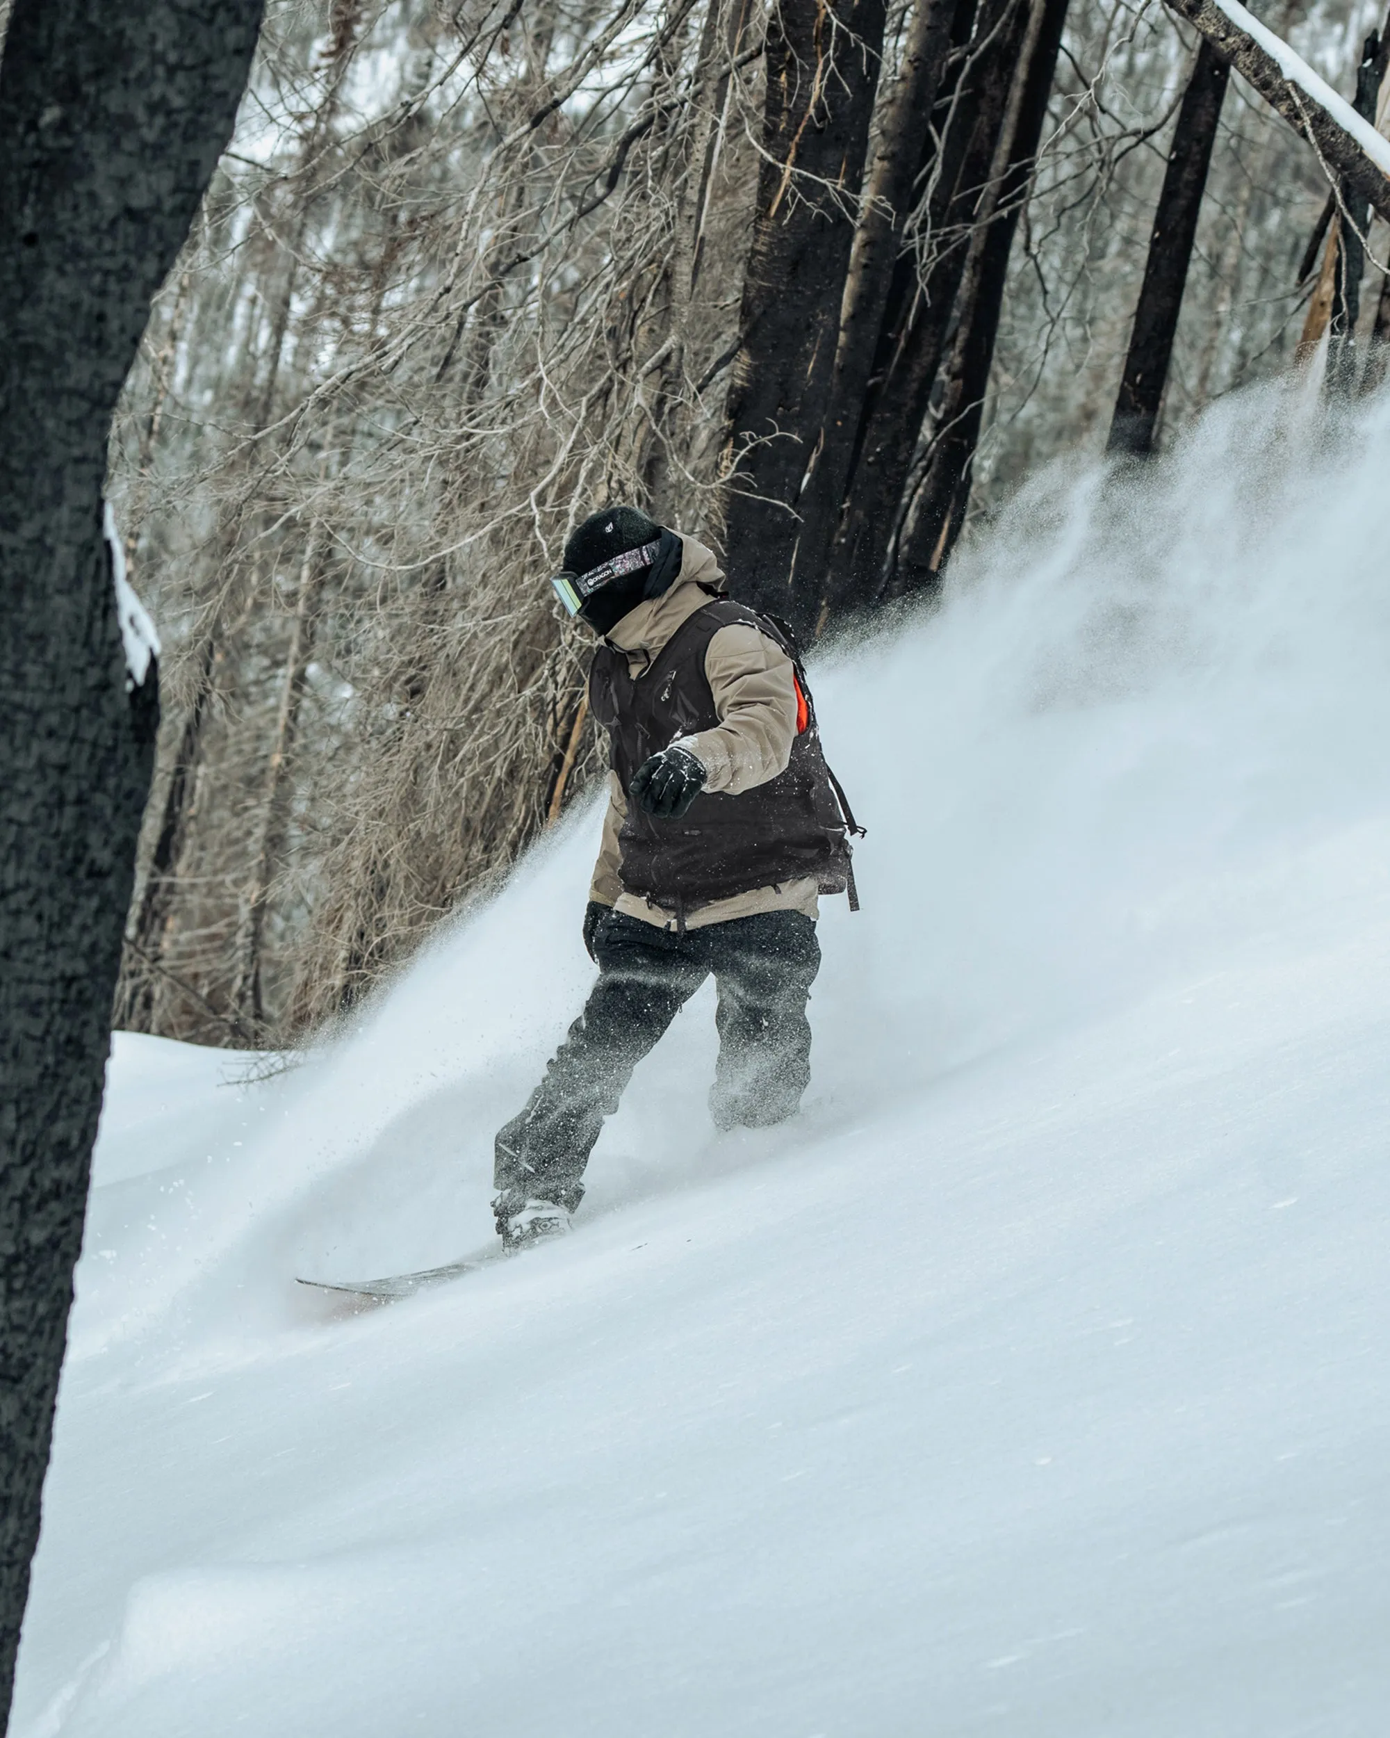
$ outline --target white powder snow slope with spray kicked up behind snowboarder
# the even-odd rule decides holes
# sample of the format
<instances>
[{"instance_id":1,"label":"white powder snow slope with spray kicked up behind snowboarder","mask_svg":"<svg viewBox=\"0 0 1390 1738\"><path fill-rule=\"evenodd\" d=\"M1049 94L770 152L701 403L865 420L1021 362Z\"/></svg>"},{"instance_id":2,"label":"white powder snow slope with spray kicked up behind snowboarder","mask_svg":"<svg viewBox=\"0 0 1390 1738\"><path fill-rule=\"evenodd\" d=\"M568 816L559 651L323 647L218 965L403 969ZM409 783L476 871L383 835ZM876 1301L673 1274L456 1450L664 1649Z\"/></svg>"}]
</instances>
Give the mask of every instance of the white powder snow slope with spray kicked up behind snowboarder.
<instances>
[{"instance_id":1,"label":"white powder snow slope with spray kicked up behind snowboarder","mask_svg":"<svg viewBox=\"0 0 1390 1738\"><path fill-rule=\"evenodd\" d=\"M1390 415L1055 471L817 669L798 1119L490 1140L598 812L297 1072L118 1036L14 1738L1320 1738L1390 1700Z\"/></svg>"}]
</instances>

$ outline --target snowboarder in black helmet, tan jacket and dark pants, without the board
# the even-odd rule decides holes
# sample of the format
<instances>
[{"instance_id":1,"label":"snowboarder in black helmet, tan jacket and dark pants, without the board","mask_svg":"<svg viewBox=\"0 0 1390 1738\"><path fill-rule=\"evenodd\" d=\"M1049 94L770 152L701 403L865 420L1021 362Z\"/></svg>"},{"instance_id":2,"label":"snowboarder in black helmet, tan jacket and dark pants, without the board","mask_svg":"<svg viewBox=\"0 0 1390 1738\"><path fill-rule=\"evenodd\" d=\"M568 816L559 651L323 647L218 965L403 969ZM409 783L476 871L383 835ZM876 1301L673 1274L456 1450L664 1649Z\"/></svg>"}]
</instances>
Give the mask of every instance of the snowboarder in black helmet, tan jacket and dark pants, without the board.
<instances>
[{"instance_id":1,"label":"snowboarder in black helmet, tan jacket and dark pants, without the board","mask_svg":"<svg viewBox=\"0 0 1390 1738\"><path fill-rule=\"evenodd\" d=\"M584 945L598 984L497 1135L504 1248L566 1231L605 1116L714 973L716 1126L796 1112L820 893L851 890L850 831L789 629L725 593L714 554L636 507L594 513L553 580L601 636L589 704L610 799Z\"/></svg>"}]
</instances>

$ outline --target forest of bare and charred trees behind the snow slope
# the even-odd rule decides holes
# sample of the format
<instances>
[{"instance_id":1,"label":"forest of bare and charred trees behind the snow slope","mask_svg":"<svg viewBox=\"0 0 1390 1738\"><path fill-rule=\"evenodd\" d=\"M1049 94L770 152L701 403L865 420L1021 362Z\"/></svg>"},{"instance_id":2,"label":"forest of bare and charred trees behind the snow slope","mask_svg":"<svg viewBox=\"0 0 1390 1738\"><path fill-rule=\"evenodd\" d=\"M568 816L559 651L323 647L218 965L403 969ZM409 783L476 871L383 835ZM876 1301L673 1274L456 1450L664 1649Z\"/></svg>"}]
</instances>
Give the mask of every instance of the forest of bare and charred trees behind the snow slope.
<instances>
[{"instance_id":1,"label":"forest of bare and charred trees behind the snow slope","mask_svg":"<svg viewBox=\"0 0 1390 1738\"><path fill-rule=\"evenodd\" d=\"M1256 10L1350 99L1373 7ZM116 1024L294 1046L582 794L546 579L605 501L806 640L930 605L1115 440L1166 174L1162 440L1296 363L1371 389L1385 226L1340 249L1199 43L1157 0L271 0L113 433L165 673Z\"/></svg>"}]
</instances>

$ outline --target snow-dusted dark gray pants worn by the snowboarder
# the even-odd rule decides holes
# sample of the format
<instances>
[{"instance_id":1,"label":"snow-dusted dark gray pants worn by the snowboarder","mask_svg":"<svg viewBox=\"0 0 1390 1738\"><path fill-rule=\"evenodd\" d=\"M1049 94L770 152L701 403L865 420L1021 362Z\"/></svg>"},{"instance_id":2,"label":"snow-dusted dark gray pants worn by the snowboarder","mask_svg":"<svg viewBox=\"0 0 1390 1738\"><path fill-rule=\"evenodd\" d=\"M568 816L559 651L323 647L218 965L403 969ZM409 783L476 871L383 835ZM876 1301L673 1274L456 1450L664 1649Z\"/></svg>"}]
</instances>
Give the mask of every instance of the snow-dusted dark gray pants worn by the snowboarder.
<instances>
[{"instance_id":1,"label":"snow-dusted dark gray pants worn by the snowboarder","mask_svg":"<svg viewBox=\"0 0 1390 1738\"><path fill-rule=\"evenodd\" d=\"M497 1135L499 1224L526 1199L573 1211L584 1166L622 1090L714 973L719 1060L709 1109L719 1128L780 1123L811 1078L806 999L820 970L815 923L799 911L711 923L676 935L610 912L594 937L599 978L526 1109Z\"/></svg>"}]
</instances>

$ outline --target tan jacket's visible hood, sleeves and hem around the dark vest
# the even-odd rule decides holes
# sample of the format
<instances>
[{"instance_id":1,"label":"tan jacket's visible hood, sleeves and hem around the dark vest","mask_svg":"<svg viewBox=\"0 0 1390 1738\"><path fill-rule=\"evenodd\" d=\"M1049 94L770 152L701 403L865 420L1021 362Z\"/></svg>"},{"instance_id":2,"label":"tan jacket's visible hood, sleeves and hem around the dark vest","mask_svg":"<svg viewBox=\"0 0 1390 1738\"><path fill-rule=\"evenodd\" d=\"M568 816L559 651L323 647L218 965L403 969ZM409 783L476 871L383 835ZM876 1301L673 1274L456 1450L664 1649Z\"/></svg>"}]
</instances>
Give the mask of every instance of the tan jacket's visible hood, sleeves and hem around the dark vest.
<instances>
[{"instance_id":1,"label":"tan jacket's visible hood, sleeves and hem around the dark vest","mask_svg":"<svg viewBox=\"0 0 1390 1738\"><path fill-rule=\"evenodd\" d=\"M711 601L704 587L719 593L726 589L714 551L693 537L681 537L681 574L676 584L660 598L629 610L608 634L608 645L626 653L632 676L650 669L676 629ZM719 723L714 730L678 739L679 746L690 749L705 768L709 775L705 791L728 791L738 796L785 772L796 740L796 683L792 660L782 647L756 627L733 622L711 638L705 676ZM603 819L603 843L589 899L613 905L629 918L641 918L671 930L676 926L672 912L622 890L619 829L626 813L627 796L619 786L617 773L608 773L608 813ZM712 900L709 905L686 911L685 926L697 930L707 923L728 923L731 918L751 918L763 911L799 911L817 918L820 905L815 879L784 881L780 886L759 886L731 899Z\"/></svg>"}]
</instances>

